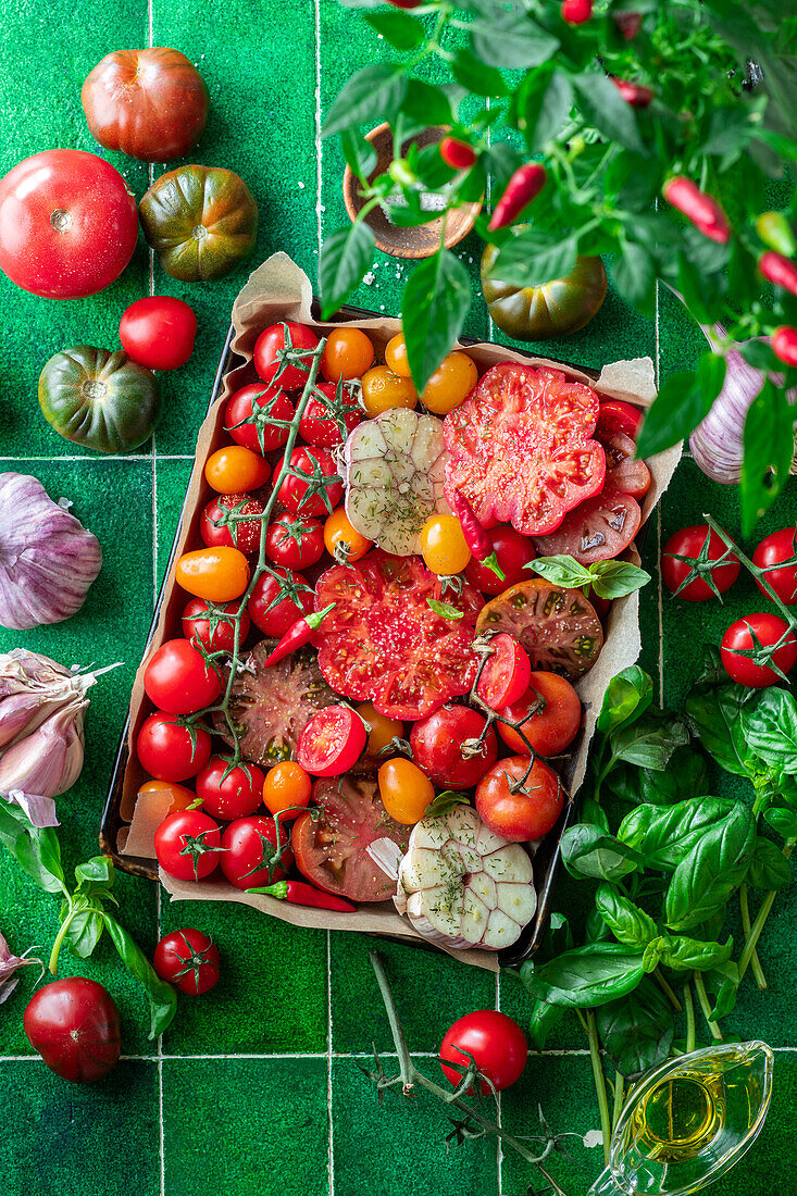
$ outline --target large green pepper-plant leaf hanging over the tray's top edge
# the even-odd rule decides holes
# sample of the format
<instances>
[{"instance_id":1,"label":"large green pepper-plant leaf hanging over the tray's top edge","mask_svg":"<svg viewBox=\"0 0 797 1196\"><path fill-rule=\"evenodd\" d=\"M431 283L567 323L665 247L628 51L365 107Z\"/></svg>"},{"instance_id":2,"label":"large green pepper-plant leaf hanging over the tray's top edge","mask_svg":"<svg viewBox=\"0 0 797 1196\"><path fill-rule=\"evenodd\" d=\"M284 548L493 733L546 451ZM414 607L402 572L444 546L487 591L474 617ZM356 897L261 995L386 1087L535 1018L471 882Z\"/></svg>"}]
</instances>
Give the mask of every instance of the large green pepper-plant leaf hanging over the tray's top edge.
<instances>
[{"instance_id":1,"label":"large green pepper-plant leaf hanging over the tray's top edge","mask_svg":"<svg viewBox=\"0 0 797 1196\"><path fill-rule=\"evenodd\" d=\"M402 328L419 395L460 335L469 307L470 277L448 249L439 249L410 274L402 299Z\"/></svg>"}]
</instances>

